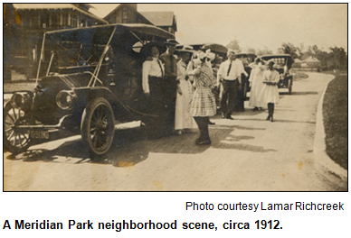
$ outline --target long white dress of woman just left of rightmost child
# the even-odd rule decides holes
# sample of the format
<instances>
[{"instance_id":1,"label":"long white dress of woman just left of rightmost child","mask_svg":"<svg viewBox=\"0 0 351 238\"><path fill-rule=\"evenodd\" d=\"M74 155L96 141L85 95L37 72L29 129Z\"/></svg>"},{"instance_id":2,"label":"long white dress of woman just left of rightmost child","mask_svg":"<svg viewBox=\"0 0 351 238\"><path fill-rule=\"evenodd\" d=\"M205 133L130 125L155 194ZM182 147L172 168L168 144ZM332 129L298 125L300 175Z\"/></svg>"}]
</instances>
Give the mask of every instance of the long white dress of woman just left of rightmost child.
<instances>
[{"instance_id":1,"label":"long white dress of woman just left of rightmost child","mask_svg":"<svg viewBox=\"0 0 351 238\"><path fill-rule=\"evenodd\" d=\"M251 82L251 92L250 92L250 102L249 105L256 107L265 106L265 102L261 97L262 87L264 86L262 83L263 72L266 67L259 63L255 65L251 70L251 75L249 81Z\"/></svg>"}]
</instances>

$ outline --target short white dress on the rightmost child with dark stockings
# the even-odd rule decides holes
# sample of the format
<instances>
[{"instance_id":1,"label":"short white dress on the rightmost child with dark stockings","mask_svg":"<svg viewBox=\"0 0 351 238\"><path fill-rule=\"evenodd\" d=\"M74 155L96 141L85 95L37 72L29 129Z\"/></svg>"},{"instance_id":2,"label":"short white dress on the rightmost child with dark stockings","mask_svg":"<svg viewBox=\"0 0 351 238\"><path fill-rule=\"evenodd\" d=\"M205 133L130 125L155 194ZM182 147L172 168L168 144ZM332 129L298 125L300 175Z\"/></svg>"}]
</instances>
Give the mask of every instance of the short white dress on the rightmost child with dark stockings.
<instances>
[{"instance_id":1,"label":"short white dress on the rightmost child with dark stockings","mask_svg":"<svg viewBox=\"0 0 351 238\"><path fill-rule=\"evenodd\" d=\"M280 81L280 74L277 70L266 70L263 73L263 81L275 82L278 83ZM263 83L263 87L261 90L261 98L265 104L278 104L280 100L280 93L277 85L268 85Z\"/></svg>"}]
</instances>

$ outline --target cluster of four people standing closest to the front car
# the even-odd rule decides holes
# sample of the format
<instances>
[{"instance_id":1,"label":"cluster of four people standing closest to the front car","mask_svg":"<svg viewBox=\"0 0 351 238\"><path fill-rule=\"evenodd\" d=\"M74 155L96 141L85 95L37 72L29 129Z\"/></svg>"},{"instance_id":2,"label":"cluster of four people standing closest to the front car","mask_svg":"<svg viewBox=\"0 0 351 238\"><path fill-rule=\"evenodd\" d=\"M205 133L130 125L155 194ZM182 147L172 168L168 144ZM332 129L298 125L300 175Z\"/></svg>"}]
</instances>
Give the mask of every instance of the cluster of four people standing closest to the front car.
<instances>
[{"instance_id":1,"label":"cluster of four people standing closest to the front car","mask_svg":"<svg viewBox=\"0 0 351 238\"><path fill-rule=\"evenodd\" d=\"M143 63L142 86L150 109L142 120L147 136L179 134L197 124L200 136L195 143L211 144L208 124L209 116L216 114L216 104L209 50L184 47L175 52L175 40L165 44L166 52L161 55L157 44L149 44L149 57Z\"/></svg>"}]
</instances>

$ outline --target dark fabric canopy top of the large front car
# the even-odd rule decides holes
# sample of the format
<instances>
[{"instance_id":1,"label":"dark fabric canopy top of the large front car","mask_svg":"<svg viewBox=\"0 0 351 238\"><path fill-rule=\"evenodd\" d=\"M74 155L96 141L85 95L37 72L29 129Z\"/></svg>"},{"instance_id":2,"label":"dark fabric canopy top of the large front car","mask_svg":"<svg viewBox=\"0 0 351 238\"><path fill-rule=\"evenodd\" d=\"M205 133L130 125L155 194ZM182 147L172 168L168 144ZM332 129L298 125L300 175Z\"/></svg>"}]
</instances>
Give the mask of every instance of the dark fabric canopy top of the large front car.
<instances>
[{"instance_id":1,"label":"dark fabric canopy top of the large front car","mask_svg":"<svg viewBox=\"0 0 351 238\"><path fill-rule=\"evenodd\" d=\"M46 38L54 42L76 41L86 44L107 44L116 28L112 46L119 45L123 48L131 48L136 42L161 41L175 39L175 35L161 28L147 24L109 24L91 26L87 28L65 29L46 32Z\"/></svg>"}]
</instances>

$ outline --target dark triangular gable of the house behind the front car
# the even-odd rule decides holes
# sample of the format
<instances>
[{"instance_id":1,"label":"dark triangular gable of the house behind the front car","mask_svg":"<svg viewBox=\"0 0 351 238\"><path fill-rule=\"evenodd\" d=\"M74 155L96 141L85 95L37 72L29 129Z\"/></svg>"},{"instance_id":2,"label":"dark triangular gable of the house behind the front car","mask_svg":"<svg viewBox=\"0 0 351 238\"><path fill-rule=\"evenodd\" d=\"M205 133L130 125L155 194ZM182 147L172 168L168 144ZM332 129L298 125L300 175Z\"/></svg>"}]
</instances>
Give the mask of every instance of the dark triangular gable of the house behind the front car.
<instances>
[{"instance_id":1,"label":"dark triangular gable of the house behind the front car","mask_svg":"<svg viewBox=\"0 0 351 238\"><path fill-rule=\"evenodd\" d=\"M104 20L113 23L144 23L153 24L145 16L138 13L137 4L119 4L104 17Z\"/></svg>"}]
</instances>

